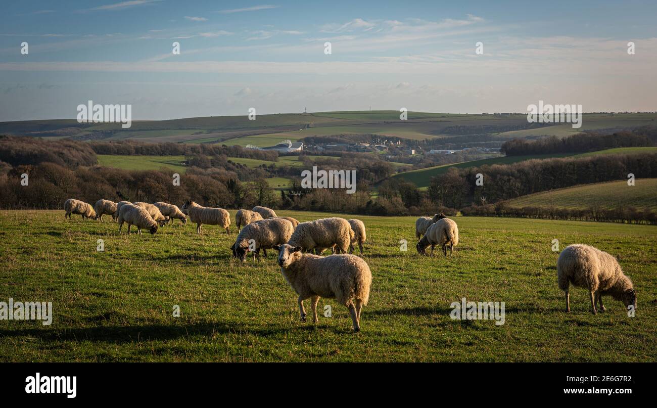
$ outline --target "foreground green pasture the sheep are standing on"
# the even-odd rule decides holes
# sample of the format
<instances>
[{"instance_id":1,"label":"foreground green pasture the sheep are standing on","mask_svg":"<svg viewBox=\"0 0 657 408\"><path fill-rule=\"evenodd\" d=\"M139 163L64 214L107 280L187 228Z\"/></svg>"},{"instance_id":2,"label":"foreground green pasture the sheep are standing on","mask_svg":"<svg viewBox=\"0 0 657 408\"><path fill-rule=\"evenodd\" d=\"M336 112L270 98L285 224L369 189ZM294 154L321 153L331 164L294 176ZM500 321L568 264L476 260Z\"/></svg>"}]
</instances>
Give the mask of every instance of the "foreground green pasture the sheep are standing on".
<instances>
[{"instance_id":1,"label":"foreground green pasture the sheep are standing on","mask_svg":"<svg viewBox=\"0 0 657 408\"><path fill-rule=\"evenodd\" d=\"M354 334L334 300L320 300L316 326L302 323L271 253L231 259L234 229L198 236L177 224L127 236L110 222L64 221L63 211L0 211L0 300L53 302L55 314L51 326L0 321L0 361L657 360L657 227L457 217L461 242L445 259L415 253L414 217L359 218L373 284ZM591 315L581 288L564 313L555 238L617 256L637 288L636 317L610 299ZM462 297L505 302L505 324L452 320ZM327 304L332 317L321 315Z\"/></svg>"}]
</instances>

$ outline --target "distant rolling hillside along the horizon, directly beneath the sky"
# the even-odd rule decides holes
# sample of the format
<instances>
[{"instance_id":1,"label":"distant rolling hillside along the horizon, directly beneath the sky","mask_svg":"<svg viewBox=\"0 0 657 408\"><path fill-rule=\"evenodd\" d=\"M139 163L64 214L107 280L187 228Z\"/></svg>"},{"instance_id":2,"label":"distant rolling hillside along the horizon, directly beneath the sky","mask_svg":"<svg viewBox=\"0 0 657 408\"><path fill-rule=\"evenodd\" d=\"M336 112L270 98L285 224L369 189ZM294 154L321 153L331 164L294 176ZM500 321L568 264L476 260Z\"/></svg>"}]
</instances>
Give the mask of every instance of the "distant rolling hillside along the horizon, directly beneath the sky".
<instances>
[{"instance_id":1,"label":"distant rolling hillside along the horizon, directly beneath the sky","mask_svg":"<svg viewBox=\"0 0 657 408\"><path fill-rule=\"evenodd\" d=\"M528 124L524 114L443 114L408 112L399 119L396 110L315 112L307 114L208 116L173 120L133 121L120 124L79 124L76 120L0 122L0 135L70 137L72 139L138 139L182 143L225 143L268 146L283 139L340 134L378 134L422 140L457 135L495 134L507 137L569 135L587 129L627 129L655 123L657 114L585 114L582 127L570 124Z\"/></svg>"}]
</instances>

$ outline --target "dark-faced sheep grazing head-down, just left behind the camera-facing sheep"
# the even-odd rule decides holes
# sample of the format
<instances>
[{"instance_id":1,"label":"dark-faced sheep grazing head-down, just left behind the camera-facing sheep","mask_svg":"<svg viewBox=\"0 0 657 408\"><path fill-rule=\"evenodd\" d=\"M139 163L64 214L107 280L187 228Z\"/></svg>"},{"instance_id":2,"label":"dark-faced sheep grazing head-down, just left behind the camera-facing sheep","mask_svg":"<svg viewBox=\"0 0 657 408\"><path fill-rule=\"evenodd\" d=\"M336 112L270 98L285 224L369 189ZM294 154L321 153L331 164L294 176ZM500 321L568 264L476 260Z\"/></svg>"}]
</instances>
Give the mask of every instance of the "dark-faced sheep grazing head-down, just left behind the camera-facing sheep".
<instances>
[{"instance_id":1,"label":"dark-faced sheep grazing head-down, just left behind the camera-facing sheep","mask_svg":"<svg viewBox=\"0 0 657 408\"><path fill-rule=\"evenodd\" d=\"M231 246L233 256L244 262L248 252L254 250L253 258L255 259L260 254L260 248L262 248L265 258L267 258L267 248L288 242L292 232L294 232L292 223L281 218L261 219L258 222L244 225L242 231L237 235L235 244ZM254 240L255 248L249 248L250 240Z\"/></svg>"}]
</instances>

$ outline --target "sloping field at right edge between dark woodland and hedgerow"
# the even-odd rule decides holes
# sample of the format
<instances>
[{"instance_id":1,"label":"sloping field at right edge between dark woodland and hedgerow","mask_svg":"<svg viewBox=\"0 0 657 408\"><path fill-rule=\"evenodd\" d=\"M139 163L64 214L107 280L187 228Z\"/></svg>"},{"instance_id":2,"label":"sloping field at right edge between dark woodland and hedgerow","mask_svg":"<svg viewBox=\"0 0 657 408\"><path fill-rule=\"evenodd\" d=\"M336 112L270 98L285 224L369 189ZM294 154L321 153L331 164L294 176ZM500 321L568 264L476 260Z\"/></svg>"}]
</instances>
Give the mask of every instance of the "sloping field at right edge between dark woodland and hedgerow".
<instances>
[{"instance_id":1,"label":"sloping field at right edge between dark woodland and hedgerow","mask_svg":"<svg viewBox=\"0 0 657 408\"><path fill-rule=\"evenodd\" d=\"M657 211L657 179L636 179L578 185L566 189L528 194L505 202L509 207L543 207L585 210L599 207L607 210L633 206L637 210Z\"/></svg>"}]
</instances>

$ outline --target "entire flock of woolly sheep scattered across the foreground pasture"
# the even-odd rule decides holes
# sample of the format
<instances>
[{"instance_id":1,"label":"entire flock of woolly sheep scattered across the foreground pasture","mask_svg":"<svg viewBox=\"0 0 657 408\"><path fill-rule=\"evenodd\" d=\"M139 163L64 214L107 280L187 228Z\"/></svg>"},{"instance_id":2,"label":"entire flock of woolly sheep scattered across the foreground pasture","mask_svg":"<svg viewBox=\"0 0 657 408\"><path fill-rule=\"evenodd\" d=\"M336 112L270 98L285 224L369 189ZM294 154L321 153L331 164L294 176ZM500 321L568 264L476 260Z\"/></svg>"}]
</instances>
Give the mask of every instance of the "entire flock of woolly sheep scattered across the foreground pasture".
<instances>
[{"instance_id":1,"label":"entire flock of woolly sheep scattered across the foreground pasture","mask_svg":"<svg viewBox=\"0 0 657 408\"><path fill-rule=\"evenodd\" d=\"M83 219L102 221L102 215L109 214L119 224L119 233L124 223L130 234L132 225L148 229L151 234L158 227L173 219L187 223L187 218L196 223L196 232L201 232L203 224L219 225L230 234L231 218L223 208L203 207L196 202L187 201L181 208L165 202L112 202L98 200L95 206L71 198L64 203L65 217L79 214ZM302 321L306 321L303 301L310 298L313 321L317 323L317 302L319 298L334 298L346 306L351 315L353 330L360 330L361 308L367 305L372 273L362 258L352 254L358 244L363 254L366 240L365 224L359 219L330 217L300 223L292 217L279 217L271 208L256 206L252 210L238 210L235 215L238 235L231 251L235 258L246 261L249 252L254 258L267 249L279 252L278 264L285 281L298 294L298 305ZM241 231L240 231L241 229ZM431 246L440 246L443 256L452 255L459 243L459 228L453 219L445 214L434 217L420 217L415 222L415 236L419 239L417 252L426 254ZM331 256L321 256L325 250ZM313 254L314 252L314 254ZM566 311L570 311L570 284L589 288L593 313L597 313L596 302L602 306L602 296L612 296L621 300L625 306L636 307L637 297L630 279L622 272L618 261L607 254L583 244L574 244L564 249L557 261L558 286L566 293Z\"/></svg>"}]
</instances>

